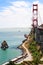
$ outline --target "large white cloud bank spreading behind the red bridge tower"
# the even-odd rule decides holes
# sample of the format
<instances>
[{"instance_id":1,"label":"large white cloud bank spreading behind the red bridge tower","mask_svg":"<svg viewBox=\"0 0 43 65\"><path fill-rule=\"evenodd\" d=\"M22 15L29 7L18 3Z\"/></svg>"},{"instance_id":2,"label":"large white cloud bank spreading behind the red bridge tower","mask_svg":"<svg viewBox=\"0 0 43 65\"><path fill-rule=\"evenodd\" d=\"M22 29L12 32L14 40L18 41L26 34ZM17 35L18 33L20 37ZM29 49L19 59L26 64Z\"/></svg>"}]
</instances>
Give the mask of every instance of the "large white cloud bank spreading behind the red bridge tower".
<instances>
[{"instance_id":1,"label":"large white cloud bank spreading behind the red bridge tower","mask_svg":"<svg viewBox=\"0 0 43 65\"><path fill-rule=\"evenodd\" d=\"M43 19L43 4L39 3L39 10ZM30 27L32 24L32 3L25 1L11 2L11 6L4 7L0 12L0 28Z\"/></svg>"}]
</instances>

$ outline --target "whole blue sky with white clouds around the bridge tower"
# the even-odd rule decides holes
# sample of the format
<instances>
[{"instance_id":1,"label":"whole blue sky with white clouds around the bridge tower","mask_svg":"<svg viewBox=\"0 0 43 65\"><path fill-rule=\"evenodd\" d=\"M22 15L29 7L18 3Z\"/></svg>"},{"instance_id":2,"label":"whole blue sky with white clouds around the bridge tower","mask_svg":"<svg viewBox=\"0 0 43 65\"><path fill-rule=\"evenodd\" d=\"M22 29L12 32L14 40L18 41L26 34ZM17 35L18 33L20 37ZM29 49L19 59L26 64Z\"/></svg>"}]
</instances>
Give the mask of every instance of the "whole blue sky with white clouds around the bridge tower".
<instances>
[{"instance_id":1,"label":"whole blue sky with white clouds around the bridge tower","mask_svg":"<svg viewBox=\"0 0 43 65\"><path fill-rule=\"evenodd\" d=\"M38 3L38 21L43 23L43 0L0 0L0 28L30 27L32 4Z\"/></svg>"}]
</instances>

